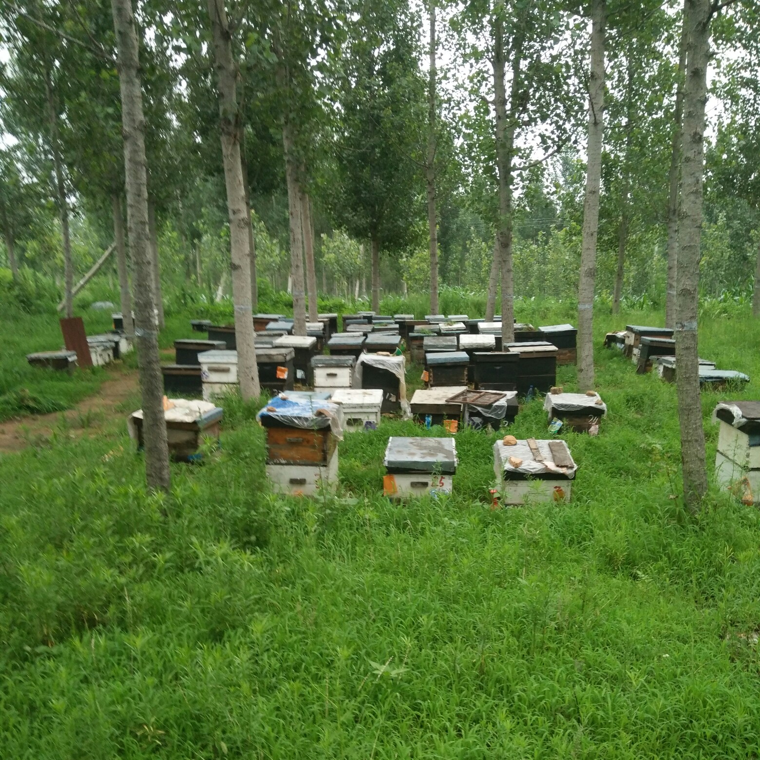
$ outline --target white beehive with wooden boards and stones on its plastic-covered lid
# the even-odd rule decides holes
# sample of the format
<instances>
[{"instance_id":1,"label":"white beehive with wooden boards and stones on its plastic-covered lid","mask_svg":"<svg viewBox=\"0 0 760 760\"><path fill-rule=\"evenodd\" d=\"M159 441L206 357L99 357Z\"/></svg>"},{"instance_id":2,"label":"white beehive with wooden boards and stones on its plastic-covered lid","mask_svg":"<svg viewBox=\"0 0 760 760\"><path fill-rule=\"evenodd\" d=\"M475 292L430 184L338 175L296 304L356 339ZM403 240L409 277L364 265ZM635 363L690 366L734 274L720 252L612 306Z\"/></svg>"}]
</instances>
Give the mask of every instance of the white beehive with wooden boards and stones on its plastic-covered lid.
<instances>
[{"instance_id":1,"label":"white beehive with wooden boards and stones on its plastic-covered lid","mask_svg":"<svg viewBox=\"0 0 760 760\"><path fill-rule=\"evenodd\" d=\"M513 446L499 440L493 445L496 490L505 505L568 502L577 470L562 440L518 439Z\"/></svg>"}]
</instances>

